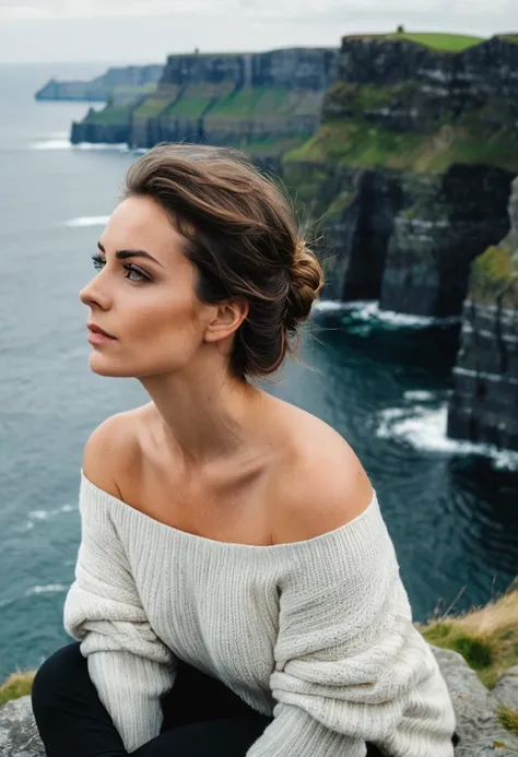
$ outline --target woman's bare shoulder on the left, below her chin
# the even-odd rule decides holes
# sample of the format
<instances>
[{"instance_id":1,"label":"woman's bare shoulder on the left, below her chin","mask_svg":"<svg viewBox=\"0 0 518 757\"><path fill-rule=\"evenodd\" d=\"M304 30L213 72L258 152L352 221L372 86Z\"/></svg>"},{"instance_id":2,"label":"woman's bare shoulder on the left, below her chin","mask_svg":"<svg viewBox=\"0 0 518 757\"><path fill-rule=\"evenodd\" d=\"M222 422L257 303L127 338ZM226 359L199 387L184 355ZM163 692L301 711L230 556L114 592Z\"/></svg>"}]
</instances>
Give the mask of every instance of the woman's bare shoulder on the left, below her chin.
<instances>
[{"instance_id":1,"label":"woman's bare shoulder on the left, below her chin","mask_svg":"<svg viewBox=\"0 0 518 757\"><path fill-rule=\"evenodd\" d=\"M144 407L110 415L94 428L84 446L84 475L95 486L119 499L121 495L116 481L120 481L123 468L131 468L139 460L137 429Z\"/></svg>"}]
</instances>

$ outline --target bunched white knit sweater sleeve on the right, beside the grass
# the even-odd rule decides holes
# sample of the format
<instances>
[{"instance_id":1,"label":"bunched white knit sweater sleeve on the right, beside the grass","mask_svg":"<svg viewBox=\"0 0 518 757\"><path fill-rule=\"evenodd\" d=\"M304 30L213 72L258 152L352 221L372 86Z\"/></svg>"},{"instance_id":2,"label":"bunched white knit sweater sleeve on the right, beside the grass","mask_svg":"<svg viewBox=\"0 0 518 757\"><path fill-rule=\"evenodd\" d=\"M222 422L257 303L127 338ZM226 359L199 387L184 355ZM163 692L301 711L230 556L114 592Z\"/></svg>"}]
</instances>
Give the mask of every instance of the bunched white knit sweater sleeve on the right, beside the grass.
<instances>
[{"instance_id":1,"label":"bunched white knit sweater sleeve on the right, beside the grass","mask_svg":"<svg viewBox=\"0 0 518 757\"><path fill-rule=\"evenodd\" d=\"M279 587L273 721L247 757L364 757L366 742L391 757L454 757L449 693L377 501L301 554Z\"/></svg>"}]
</instances>

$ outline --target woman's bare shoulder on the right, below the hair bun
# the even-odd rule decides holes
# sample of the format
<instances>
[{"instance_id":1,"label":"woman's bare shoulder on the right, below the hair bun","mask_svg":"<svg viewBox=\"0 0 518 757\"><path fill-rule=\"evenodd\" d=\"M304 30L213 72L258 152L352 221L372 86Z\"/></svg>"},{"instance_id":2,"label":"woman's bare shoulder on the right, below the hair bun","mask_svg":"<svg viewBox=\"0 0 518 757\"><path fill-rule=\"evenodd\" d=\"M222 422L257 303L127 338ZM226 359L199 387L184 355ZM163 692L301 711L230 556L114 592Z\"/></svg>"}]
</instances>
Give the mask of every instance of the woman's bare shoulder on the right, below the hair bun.
<instances>
[{"instance_id":1,"label":"woman's bare shoulder on the right, below the hair bun","mask_svg":"<svg viewBox=\"0 0 518 757\"><path fill-rule=\"evenodd\" d=\"M296 441L283 465L275 543L305 541L354 520L374 488L351 445L326 422L302 412ZM279 480L278 480L279 481Z\"/></svg>"}]
</instances>

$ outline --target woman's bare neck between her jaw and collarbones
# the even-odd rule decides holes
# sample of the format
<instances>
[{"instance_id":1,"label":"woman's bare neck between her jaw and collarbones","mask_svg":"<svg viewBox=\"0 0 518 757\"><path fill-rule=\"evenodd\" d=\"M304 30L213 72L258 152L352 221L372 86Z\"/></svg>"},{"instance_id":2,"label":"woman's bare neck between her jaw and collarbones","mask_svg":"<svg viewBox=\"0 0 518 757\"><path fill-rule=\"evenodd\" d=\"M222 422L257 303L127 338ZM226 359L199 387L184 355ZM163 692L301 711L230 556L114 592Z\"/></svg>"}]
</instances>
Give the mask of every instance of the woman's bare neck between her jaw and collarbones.
<instances>
[{"instance_id":1,"label":"woman's bare neck between her jaw and collarbones","mask_svg":"<svg viewBox=\"0 0 518 757\"><path fill-rule=\"evenodd\" d=\"M186 470L228 460L257 445L269 398L262 390L223 371L161 375L141 382L161 416L163 443Z\"/></svg>"}]
</instances>

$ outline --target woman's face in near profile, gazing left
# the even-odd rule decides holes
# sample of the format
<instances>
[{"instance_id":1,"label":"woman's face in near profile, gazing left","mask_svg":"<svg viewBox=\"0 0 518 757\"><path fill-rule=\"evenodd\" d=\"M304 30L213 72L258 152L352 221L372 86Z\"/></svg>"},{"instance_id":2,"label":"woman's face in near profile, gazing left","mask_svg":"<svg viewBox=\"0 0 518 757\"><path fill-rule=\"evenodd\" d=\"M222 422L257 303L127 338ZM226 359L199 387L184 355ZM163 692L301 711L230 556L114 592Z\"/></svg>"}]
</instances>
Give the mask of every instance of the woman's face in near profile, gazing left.
<instances>
[{"instance_id":1,"label":"woman's face in near profile, gazing left","mask_svg":"<svg viewBox=\"0 0 518 757\"><path fill-rule=\"evenodd\" d=\"M98 273L79 293L89 323L115 336L92 345L94 372L143 378L192 359L214 306L195 295L196 269L183 253L184 241L153 199L130 197L116 208L98 243ZM118 259L125 250L153 260Z\"/></svg>"}]
</instances>

